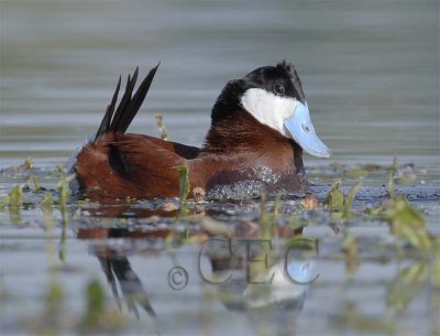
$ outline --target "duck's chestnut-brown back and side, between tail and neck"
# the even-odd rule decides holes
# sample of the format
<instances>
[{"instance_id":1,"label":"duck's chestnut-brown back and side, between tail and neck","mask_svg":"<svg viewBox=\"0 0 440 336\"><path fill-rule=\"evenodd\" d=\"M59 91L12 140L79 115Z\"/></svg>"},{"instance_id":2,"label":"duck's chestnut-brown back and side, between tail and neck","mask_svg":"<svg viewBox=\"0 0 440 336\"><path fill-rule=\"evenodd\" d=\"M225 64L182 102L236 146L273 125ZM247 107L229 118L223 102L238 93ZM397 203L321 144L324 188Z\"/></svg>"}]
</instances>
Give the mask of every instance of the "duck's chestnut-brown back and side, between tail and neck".
<instances>
[{"instance_id":1,"label":"duck's chestnut-brown back and side, between tail and neck","mask_svg":"<svg viewBox=\"0 0 440 336\"><path fill-rule=\"evenodd\" d=\"M107 133L81 149L76 174L90 199L172 197L179 193L175 167L198 152L148 136Z\"/></svg>"}]
</instances>

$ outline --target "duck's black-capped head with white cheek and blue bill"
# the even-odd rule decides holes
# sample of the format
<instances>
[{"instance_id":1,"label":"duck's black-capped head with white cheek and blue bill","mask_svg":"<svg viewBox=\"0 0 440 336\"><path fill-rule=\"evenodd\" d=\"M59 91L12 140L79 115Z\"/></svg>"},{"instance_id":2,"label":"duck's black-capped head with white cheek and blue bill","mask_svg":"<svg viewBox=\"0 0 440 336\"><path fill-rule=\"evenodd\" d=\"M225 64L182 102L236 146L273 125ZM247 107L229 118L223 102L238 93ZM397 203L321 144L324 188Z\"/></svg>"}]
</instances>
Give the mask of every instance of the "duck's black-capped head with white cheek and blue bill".
<instances>
[{"instance_id":1,"label":"duck's black-capped head with white cheek and blue bill","mask_svg":"<svg viewBox=\"0 0 440 336\"><path fill-rule=\"evenodd\" d=\"M276 66L260 67L242 79L230 80L212 108L212 127L223 126L224 120L234 122L240 113L249 113L260 123L293 139L311 155L329 158L331 154L315 132L299 76L285 61Z\"/></svg>"}]
</instances>

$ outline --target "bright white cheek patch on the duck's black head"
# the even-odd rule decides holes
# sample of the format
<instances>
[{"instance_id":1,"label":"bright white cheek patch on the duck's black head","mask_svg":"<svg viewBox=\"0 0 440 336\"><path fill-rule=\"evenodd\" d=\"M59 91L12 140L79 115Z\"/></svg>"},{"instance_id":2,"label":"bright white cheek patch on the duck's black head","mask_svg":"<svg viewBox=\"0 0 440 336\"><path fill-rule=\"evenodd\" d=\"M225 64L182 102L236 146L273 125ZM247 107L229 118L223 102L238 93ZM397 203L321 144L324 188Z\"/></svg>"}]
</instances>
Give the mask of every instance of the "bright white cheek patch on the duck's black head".
<instances>
[{"instance_id":1,"label":"bright white cheek patch on the duck's black head","mask_svg":"<svg viewBox=\"0 0 440 336\"><path fill-rule=\"evenodd\" d=\"M279 97L261 88L250 88L241 98L241 105L256 120L287 138L284 121L294 113L296 102L294 98Z\"/></svg>"}]
</instances>

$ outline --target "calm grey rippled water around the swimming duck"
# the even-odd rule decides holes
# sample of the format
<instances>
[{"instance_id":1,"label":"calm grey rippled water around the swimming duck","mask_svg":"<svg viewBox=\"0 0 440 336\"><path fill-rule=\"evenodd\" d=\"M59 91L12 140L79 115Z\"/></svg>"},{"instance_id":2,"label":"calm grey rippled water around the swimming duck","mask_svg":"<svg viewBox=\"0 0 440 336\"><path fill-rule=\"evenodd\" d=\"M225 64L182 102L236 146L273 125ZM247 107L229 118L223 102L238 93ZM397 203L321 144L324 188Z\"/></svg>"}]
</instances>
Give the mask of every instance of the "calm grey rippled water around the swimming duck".
<instances>
[{"instance_id":1,"label":"calm grey rippled water around the swimming duck","mask_svg":"<svg viewBox=\"0 0 440 336\"><path fill-rule=\"evenodd\" d=\"M380 204L386 196L384 167L397 155L399 171L409 166L415 174L397 191L424 214L431 235L439 235L438 1L2 0L0 14L0 167L22 164L26 156L35 165L3 170L1 196L29 175L56 189L58 177L51 172L96 131L119 75L136 65L146 73L161 61L130 130L158 134L154 113L161 112L174 141L200 145L226 82L285 58L297 67L315 127L333 152L328 161L305 158L318 199L341 176L346 193L360 178L344 171L372 163L382 169L363 177L353 207L361 214ZM319 278L311 285L262 293L246 281L245 264L228 261L224 246L198 257L207 236L197 220L151 218L148 210L160 204L131 205L124 220L102 219L110 206L72 206L63 227L57 207L52 215L43 212L41 195L26 193L25 200L20 216L0 212L4 335L440 333L432 263L399 254L388 226L367 216L338 228L323 210L305 213L300 198L283 199L278 221L306 217L314 225L304 237L319 246L297 251L292 272ZM207 204L199 212L228 223L237 237L255 238L258 202ZM359 242L354 268L344 259L348 231ZM288 237L272 240L275 265ZM239 250L242 257L245 251ZM180 291L168 278L177 265L189 277ZM233 281L211 285L198 265L202 274L232 274ZM106 272L124 274L117 286L122 315ZM108 329L81 327L90 281L105 291ZM55 311L46 299L51 283L64 293L54 301ZM128 308L132 301L139 318Z\"/></svg>"}]
</instances>

